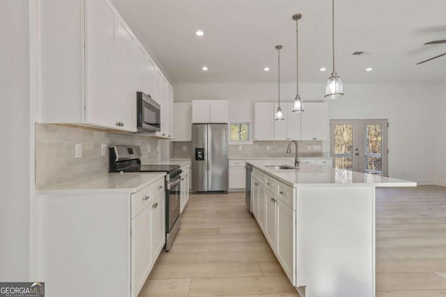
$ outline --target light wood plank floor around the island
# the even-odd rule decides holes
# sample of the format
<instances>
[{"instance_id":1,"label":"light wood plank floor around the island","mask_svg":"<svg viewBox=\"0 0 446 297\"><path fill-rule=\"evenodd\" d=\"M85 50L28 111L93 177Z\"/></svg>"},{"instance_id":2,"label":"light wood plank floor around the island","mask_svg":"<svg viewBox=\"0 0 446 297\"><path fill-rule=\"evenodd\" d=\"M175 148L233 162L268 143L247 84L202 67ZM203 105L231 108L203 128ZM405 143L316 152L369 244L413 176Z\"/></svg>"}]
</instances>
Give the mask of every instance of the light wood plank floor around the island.
<instances>
[{"instance_id":1,"label":"light wood plank floor around the island","mask_svg":"<svg viewBox=\"0 0 446 297\"><path fill-rule=\"evenodd\" d=\"M376 296L446 296L446 188L376 193ZM191 195L139 297L297 297L244 193Z\"/></svg>"}]
</instances>

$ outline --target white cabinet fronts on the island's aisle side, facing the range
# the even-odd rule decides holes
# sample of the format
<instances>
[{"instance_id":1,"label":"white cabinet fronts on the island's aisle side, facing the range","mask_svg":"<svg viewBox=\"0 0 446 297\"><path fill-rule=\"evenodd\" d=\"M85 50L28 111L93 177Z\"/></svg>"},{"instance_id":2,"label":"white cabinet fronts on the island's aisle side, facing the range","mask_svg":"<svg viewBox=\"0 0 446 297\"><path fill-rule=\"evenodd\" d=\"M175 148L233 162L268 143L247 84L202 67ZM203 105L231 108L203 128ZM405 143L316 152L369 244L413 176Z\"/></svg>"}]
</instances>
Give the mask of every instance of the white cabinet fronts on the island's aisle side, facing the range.
<instances>
[{"instance_id":1,"label":"white cabinet fronts on the island's aisle side, facing the range","mask_svg":"<svg viewBox=\"0 0 446 297\"><path fill-rule=\"evenodd\" d=\"M294 188L254 168L252 213L293 285L296 230L294 196Z\"/></svg>"}]
</instances>

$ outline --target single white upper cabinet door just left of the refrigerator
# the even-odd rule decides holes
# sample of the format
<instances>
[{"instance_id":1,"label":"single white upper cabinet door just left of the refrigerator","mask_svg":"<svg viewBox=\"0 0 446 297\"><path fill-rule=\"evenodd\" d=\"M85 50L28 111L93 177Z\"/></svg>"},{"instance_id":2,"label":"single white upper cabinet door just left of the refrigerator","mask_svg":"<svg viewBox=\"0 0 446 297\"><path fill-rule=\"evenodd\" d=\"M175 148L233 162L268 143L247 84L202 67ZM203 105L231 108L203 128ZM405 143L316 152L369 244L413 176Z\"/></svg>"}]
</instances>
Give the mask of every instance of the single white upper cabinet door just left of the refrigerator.
<instances>
[{"instance_id":1,"label":"single white upper cabinet door just left of the refrigerator","mask_svg":"<svg viewBox=\"0 0 446 297\"><path fill-rule=\"evenodd\" d=\"M174 103L174 141L192 141L192 106Z\"/></svg>"}]
</instances>

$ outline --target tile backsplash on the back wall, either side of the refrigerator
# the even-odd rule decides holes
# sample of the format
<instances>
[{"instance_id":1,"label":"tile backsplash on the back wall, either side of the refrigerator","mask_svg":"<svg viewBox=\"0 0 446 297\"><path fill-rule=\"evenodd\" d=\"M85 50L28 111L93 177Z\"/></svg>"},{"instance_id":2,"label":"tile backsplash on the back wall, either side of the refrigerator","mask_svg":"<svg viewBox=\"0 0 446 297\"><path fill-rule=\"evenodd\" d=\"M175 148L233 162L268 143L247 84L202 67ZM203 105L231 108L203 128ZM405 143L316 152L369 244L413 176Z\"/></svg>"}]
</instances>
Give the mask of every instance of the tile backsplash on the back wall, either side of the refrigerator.
<instances>
[{"instance_id":1,"label":"tile backsplash on the back wall, either side of the refrigerator","mask_svg":"<svg viewBox=\"0 0 446 297\"><path fill-rule=\"evenodd\" d=\"M289 141L254 141L252 145L229 145L229 158L290 158L292 154L286 154ZM323 141L298 141L299 156L317 157L323 156ZM241 149L241 150L240 150ZM191 141L174 141L171 145L171 158L190 159L192 156Z\"/></svg>"}]
</instances>

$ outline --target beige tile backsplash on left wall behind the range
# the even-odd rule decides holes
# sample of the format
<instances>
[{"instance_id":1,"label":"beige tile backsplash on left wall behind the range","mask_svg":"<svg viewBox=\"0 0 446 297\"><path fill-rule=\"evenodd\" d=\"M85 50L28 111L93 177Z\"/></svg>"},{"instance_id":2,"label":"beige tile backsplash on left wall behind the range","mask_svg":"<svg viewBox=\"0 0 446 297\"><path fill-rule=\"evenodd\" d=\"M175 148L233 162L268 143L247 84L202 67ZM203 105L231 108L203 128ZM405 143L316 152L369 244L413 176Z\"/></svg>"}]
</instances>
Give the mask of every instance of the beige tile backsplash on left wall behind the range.
<instances>
[{"instance_id":1,"label":"beige tile backsplash on left wall behind the range","mask_svg":"<svg viewBox=\"0 0 446 297\"><path fill-rule=\"evenodd\" d=\"M75 144L82 144L82 158L75 158ZM106 145L105 156L101 146ZM139 145L141 162L160 161L160 141L125 133L112 133L68 125L36 125L36 186L56 186L109 171L109 145Z\"/></svg>"}]
</instances>

